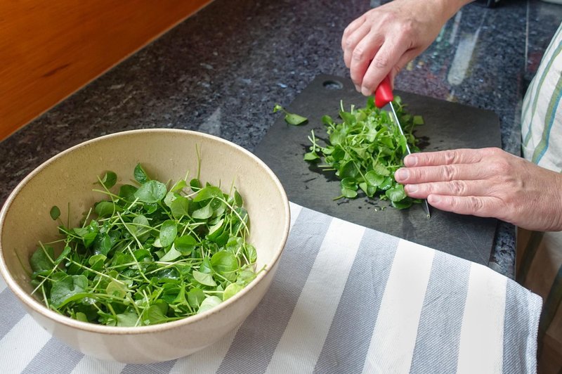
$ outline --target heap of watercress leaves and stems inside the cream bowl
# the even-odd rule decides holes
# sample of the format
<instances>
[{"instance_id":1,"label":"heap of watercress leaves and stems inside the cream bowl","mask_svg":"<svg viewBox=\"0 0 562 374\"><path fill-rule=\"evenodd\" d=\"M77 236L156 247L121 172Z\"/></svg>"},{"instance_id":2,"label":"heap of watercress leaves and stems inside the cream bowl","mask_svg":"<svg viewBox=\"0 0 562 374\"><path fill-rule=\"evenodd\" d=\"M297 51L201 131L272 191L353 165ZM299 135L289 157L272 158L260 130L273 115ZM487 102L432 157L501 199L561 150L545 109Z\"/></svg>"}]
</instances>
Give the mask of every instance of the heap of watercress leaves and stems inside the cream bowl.
<instances>
[{"instance_id":1,"label":"heap of watercress leaves and stems inside the cream bowl","mask_svg":"<svg viewBox=\"0 0 562 374\"><path fill-rule=\"evenodd\" d=\"M39 242L31 283L46 307L78 321L152 325L207 311L256 278L248 212L234 187L223 193L199 176L169 187L140 164L133 178L136 186L115 193L117 174L98 176L94 191L105 200L79 226L61 224L59 240ZM60 209L50 214L58 219Z\"/></svg>"}]
</instances>

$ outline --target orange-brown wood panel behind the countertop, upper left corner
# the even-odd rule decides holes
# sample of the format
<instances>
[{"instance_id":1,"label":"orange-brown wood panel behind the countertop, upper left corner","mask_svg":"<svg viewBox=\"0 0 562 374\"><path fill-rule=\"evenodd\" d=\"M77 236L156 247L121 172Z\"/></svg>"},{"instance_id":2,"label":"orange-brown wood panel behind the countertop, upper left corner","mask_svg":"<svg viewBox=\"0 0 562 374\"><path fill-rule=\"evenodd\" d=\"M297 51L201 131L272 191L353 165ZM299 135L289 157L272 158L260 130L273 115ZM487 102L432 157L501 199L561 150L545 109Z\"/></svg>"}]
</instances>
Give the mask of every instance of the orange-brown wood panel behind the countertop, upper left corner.
<instances>
[{"instance_id":1,"label":"orange-brown wood panel behind the countertop, upper left corner","mask_svg":"<svg viewBox=\"0 0 562 374\"><path fill-rule=\"evenodd\" d=\"M210 1L0 1L0 140Z\"/></svg>"}]
</instances>

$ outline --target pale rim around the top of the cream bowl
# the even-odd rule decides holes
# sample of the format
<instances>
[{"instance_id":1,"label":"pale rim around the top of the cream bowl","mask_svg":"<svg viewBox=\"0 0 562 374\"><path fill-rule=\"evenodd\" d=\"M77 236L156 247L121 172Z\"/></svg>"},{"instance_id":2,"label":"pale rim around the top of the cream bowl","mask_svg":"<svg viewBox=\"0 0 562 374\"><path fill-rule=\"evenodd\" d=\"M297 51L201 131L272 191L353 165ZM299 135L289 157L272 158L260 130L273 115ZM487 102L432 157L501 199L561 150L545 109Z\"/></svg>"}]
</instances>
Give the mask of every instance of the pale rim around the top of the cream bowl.
<instances>
[{"instance_id":1,"label":"pale rim around the top of the cream bowl","mask_svg":"<svg viewBox=\"0 0 562 374\"><path fill-rule=\"evenodd\" d=\"M208 138L211 141L217 141L219 143L223 143L228 147L235 148L235 150L240 151L247 157L250 157L252 160L257 162L266 171L266 173L270 176L270 178L275 183L275 186L277 187L278 191L280 191L281 193L281 197L283 200L283 212L285 213L285 222L283 222L283 238L281 243L277 246L277 248L275 248L275 251L273 253L273 258L270 262L270 264L272 265L268 266L268 268L264 268L263 271L260 271L257 274L256 278L252 280L251 283L249 283L249 285L247 285L242 290L240 290L240 292L237 292L233 297L230 297L229 299L221 302L221 304L218 304L216 307L204 311L202 314L195 314L193 316L181 318L177 321L159 323L157 325L145 325L145 326L136 326L136 327L98 325L96 323L77 321L73 318L58 314L55 311L52 311L51 309L47 309L47 307L44 304L42 304L37 299L32 297L32 295L30 295L28 292L25 292L25 290L20 288L18 283L11 276L10 271L8 271L6 262L4 261L4 249L2 248L1 245L1 235L4 229L4 220L6 218L6 214L8 212L9 207L12 205L15 196L18 195L18 193L22 190L22 188L24 188L25 185L27 185L27 183L29 183L30 180L36 174L41 172L42 169L44 169L48 165L51 165L53 162L55 162L55 160L58 160L60 157L64 157L68 153L73 152L74 150L88 147L92 143L105 141L107 138L115 138L120 136L129 136L129 135L136 135L136 134L150 134L150 133L176 133L176 134L189 134L191 136L202 136L203 138ZM290 226L289 200L287 199L287 193L285 193L285 189L283 188L280 180L277 178L275 173L273 173L273 171L268 167L268 165L266 165L265 162L263 162L259 157L254 155L254 153L251 153L249 150L242 148L242 146L238 146L237 144L218 136L202 133L200 131L192 131L186 129L154 128L154 129L134 129L134 130L126 130L126 131L117 131L112 134L98 136L96 138L91 138L89 140L83 141L70 148L67 148L66 150L63 150L62 152L54 155L53 157L50 157L48 160L42 162L41 165L34 168L32 172L27 174L27 176L25 176L25 178L22 179L22 181L20 181L20 183L18 183L17 186L15 186L15 188L10 193L10 195L8 195L8 198L6 198L6 202L4 202L4 207L2 207L2 209L0 210L0 275L4 278L6 285L8 285L8 288L11 289L11 291L18 297L18 299L20 299L20 301L23 304L25 304L25 306L37 312L41 316L44 316L54 321L55 323L67 325L68 327L77 328L79 330L86 330L90 333L99 333L105 335L143 335L143 334L157 333L157 332L162 332L164 330L179 328L183 325L189 325L191 323L195 323L197 321L202 321L204 319L210 318L211 316L214 316L215 314L218 314L221 311L223 311L223 309L228 308L231 304L237 302L238 299L244 297L244 295L246 295L247 292L251 290L251 288L254 288L257 285L257 283L260 283L261 280L263 280L263 278L266 277L266 275L271 271L271 269L275 267L275 264L277 264L277 262L279 261L279 258L285 247L285 244L287 243L287 237L289 236L289 226Z\"/></svg>"}]
</instances>

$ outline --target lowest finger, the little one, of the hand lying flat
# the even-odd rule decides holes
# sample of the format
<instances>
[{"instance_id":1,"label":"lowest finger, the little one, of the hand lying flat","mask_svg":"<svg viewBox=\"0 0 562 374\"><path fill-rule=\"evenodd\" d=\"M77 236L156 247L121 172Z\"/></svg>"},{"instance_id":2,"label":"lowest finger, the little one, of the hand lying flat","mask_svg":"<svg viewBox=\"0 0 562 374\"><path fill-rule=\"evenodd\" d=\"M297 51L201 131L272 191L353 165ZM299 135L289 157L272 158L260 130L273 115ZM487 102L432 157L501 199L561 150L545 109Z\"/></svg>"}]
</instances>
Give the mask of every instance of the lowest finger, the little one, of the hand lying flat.
<instances>
[{"instance_id":1,"label":"lowest finger, the little one, of the hand lying flat","mask_svg":"<svg viewBox=\"0 0 562 374\"><path fill-rule=\"evenodd\" d=\"M476 196L429 195L427 202L432 207L457 214L471 214L477 217L498 217L502 202L497 198Z\"/></svg>"}]
</instances>

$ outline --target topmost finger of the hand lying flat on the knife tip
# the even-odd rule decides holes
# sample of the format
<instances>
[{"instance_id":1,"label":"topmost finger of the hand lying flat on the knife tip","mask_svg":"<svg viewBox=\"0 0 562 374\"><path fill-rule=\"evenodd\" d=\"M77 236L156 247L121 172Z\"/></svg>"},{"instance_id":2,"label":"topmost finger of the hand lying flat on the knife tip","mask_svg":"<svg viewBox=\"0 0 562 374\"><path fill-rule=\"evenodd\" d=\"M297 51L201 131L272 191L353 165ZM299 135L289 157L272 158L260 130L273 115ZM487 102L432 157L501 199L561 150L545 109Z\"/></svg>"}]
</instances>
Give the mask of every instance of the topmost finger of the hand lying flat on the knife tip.
<instances>
[{"instance_id":1,"label":"topmost finger of the hand lying flat on the knife tip","mask_svg":"<svg viewBox=\"0 0 562 374\"><path fill-rule=\"evenodd\" d=\"M407 167L414 166L431 166L431 165L452 165L452 164L473 164L480 162L485 157L490 157L497 152L497 148L481 148L481 149L455 149L440 150L438 152L421 152L407 155L404 158L404 165Z\"/></svg>"}]
</instances>

